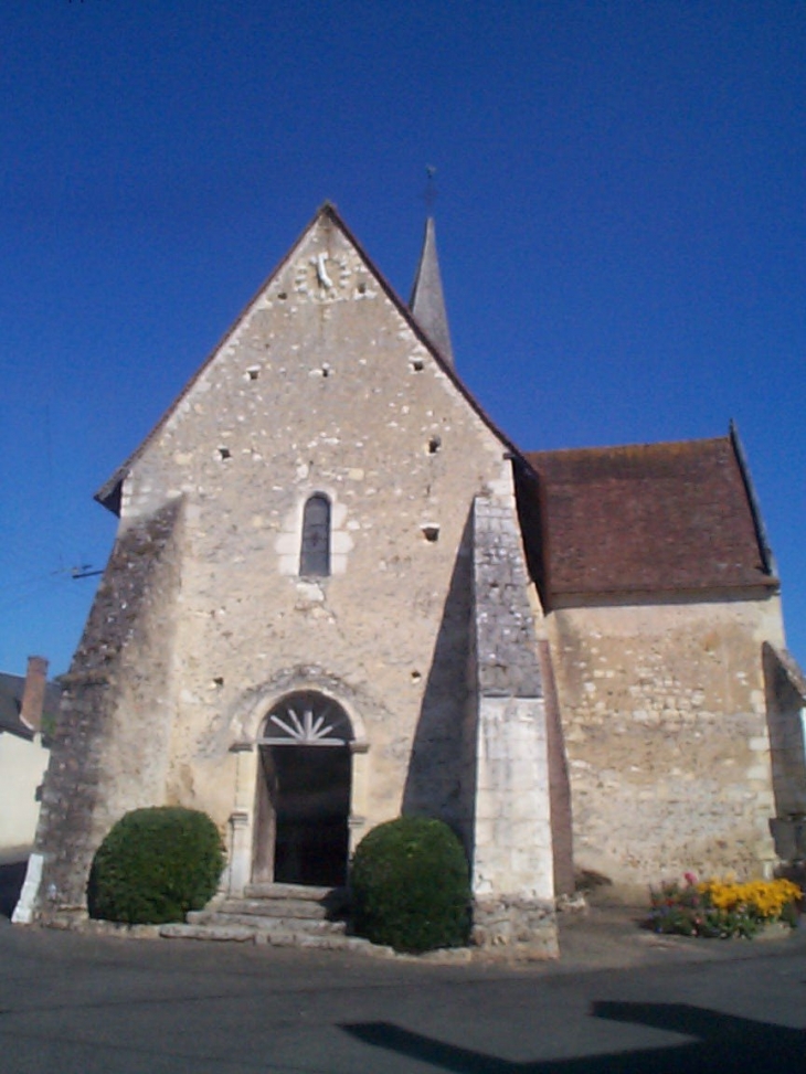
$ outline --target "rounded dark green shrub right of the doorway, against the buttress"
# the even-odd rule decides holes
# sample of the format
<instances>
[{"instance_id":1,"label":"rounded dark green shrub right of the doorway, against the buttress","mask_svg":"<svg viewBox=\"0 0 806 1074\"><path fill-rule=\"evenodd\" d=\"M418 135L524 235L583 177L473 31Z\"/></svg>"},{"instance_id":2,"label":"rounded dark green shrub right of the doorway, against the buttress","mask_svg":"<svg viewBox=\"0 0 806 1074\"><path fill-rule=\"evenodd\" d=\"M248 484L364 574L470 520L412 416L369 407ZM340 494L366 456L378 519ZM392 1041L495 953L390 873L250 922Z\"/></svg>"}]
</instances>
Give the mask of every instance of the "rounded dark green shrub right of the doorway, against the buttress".
<instances>
[{"instance_id":1,"label":"rounded dark green shrub right of the doorway, against the buttress","mask_svg":"<svg viewBox=\"0 0 806 1074\"><path fill-rule=\"evenodd\" d=\"M418 953L467 943L467 859L441 820L401 817L373 828L356 850L350 883L354 929L373 944Z\"/></svg>"}]
</instances>

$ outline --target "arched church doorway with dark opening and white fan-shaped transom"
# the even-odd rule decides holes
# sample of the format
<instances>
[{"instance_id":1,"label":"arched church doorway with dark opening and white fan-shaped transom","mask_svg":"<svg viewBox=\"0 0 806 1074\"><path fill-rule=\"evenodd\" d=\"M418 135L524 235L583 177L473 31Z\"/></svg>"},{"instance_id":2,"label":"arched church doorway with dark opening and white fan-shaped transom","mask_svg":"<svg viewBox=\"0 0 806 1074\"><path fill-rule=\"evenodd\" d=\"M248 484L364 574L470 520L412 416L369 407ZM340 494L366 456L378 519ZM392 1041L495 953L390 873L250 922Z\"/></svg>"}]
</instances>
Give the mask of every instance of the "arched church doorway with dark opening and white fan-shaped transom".
<instances>
[{"instance_id":1,"label":"arched church doorway with dark opening and white fan-shaped transom","mask_svg":"<svg viewBox=\"0 0 806 1074\"><path fill-rule=\"evenodd\" d=\"M352 738L341 705L316 691L269 711L257 740L255 882L346 883Z\"/></svg>"}]
</instances>

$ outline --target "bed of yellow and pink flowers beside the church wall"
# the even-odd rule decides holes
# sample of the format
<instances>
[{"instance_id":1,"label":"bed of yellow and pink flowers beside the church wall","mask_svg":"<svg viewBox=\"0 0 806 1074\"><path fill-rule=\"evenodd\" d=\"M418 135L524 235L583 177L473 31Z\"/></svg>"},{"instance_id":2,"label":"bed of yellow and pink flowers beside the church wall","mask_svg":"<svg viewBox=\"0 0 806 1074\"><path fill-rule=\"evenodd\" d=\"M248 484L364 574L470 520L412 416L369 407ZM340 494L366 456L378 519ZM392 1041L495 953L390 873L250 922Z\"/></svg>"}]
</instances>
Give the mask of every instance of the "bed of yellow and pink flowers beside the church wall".
<instances>
[{"instance_id":1,"label":"bed of yellow and pink flowers beside the church wall","mask_svg":"<svg viewBox=\"0 0 806 1074\"><path fill-rule=\"evenodd\" d=\"M739 883L718 878L698 882L686 873L685 883L664 883L650 890L651 925L657 933L752 939L765 925L797 923L803 892L791 880L752 880Z\"/></svg>"}]
</instances>

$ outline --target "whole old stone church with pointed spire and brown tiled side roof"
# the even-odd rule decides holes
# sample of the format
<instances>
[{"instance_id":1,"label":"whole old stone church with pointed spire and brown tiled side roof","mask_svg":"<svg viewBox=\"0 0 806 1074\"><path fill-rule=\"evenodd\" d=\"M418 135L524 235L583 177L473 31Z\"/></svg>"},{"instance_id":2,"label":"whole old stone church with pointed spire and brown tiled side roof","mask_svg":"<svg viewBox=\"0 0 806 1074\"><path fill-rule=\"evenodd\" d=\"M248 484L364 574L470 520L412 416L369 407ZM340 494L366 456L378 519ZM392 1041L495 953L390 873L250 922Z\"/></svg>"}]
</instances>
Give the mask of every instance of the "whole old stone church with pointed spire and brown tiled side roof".
<instances>
[{"instance_id":1,"label":"whole old stone church with pointed spire and brown tiled side roof","mask_svg":"<svg viewBox=\"0 0 806 1074\"><path fill-rule=\"evenodd\" d=\"M736 430L541 451L324 205L97 493L21 921L86 914L128 810L206 811L223 890L343 885L401 814L470 863L479 944L558 896L804 857L806 684Z\"/></svg>"}]
</instances>

